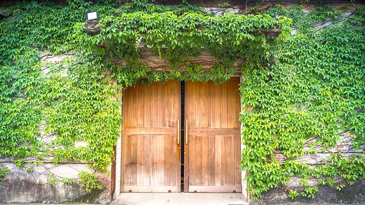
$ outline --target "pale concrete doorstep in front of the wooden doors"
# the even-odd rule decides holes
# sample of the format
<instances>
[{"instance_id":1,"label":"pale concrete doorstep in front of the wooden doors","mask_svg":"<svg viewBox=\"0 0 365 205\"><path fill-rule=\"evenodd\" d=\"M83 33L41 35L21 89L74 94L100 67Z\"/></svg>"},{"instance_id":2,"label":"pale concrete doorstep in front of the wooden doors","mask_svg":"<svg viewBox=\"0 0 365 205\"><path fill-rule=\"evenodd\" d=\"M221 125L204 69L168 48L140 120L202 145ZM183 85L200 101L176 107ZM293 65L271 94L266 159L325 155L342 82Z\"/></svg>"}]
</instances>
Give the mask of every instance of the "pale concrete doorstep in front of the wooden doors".
<instances>
[{"instance_id":1,"label":"pale concrete doorstep in front of the wooden doors","mask_svg":"<svg viewBox=\"0 0 365 205\"><path fill-rule=\"evenodd\" d=\"M235 205L248 204L242 193L120 193L111 204Z\"/></svg>"}]
</instances>

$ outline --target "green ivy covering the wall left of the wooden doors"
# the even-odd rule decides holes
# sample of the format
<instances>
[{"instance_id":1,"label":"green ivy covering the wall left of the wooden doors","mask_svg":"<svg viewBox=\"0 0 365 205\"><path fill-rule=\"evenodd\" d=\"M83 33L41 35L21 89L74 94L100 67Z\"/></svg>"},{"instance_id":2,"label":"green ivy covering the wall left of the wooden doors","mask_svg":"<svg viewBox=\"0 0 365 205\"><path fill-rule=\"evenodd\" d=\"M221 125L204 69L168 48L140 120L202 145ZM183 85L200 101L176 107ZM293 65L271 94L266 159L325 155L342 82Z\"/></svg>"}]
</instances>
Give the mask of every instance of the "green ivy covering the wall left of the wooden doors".
<instances>
[{"instance_id":1,"label":"green ivy covering the wall left of the wooden doors","mask_svg":"<svg viewBox=\"0 0 365 205\"><path fill-rule=\"evenodd\" d=\"M13 16L0 21L0 155L16 157L18 166L25 156L94 161L103 170L111 162L120 102L112 100L115 86L104 86L109 80L100 58L83 52L73 31L91 8L89 2L32 1L9 7ZM75 57L64 59L67 69L40 61L68 51ZM55 140L39 140L41 131L55 133ZM74 147L76 140L89 145Z\"/></svg>"}]
</instances>

